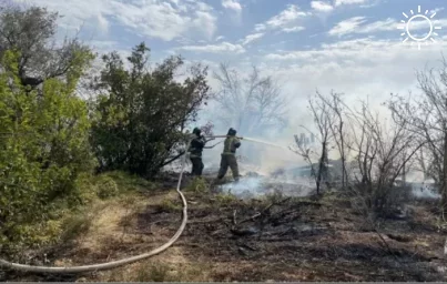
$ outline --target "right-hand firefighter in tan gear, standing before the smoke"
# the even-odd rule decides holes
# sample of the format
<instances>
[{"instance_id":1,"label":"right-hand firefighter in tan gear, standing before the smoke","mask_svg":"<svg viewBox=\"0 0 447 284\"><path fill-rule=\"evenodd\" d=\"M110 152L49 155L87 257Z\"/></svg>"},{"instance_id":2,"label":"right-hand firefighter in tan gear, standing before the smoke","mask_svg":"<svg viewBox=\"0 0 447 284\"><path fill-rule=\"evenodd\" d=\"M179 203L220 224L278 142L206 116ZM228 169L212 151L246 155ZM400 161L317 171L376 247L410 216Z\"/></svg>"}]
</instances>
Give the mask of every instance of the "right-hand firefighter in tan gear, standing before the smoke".
<instances>
[{"instance_id":1,"label":"right-hand firefighter in tan gear, standing before the smoke","mask_svg":"<svg viewBox=\"0 0 447 284\"><path fill-rule=\"evenodd\" d=\"M224 150L221 155L221 169L219 170L217 180L222 180L225 176L230 166L233 173L233 179L238 181L240 175L236 161L236 149L241 146L241 142L236 138L236 130L234 129L230 129L226 135L227 138L225 139Z\"/></svg>"}]
</instances>

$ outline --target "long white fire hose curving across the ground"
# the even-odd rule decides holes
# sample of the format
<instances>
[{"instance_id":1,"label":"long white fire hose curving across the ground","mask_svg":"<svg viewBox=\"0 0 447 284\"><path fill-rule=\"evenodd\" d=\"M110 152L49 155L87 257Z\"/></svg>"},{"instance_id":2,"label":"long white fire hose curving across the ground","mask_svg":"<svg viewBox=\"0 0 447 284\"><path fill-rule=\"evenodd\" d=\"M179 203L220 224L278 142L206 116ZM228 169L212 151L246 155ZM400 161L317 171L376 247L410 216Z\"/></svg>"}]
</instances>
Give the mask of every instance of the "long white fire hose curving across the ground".
<instances>
[{"instance_id":1,"label":"long white fire hose curving across the ground","mask_svg":"<svg viewBox=\"0 0 447 284\"><path fill-rule=\"evenodd\" d=\"M191 142L190 142L191 143ZM37 272L37 273L53 273L53 274L73 274L73 273L85 273L85 272L92 272L92 271L103 271L103 270L111 270L119 266L123 266L130 263L134 263L148 257L151 257L153 255L156 255L163 251L165 251L167 247L170 247L183 233L186 223L187 223L187 202L185 196L180 190L182 178L183 178L183 172L185 168L185 160L186 155L183 154L183 160L182 160L182 170L180 172L179 176L179 183L176 186L176 192L179 193L180 197L182 199L183 202L183 219L182 223L176 231L176 233L165 244L162 246L152 250L148 253L143 253L140 255L131 256L128 258L119 260L119 261L112 261L112 262L106 262L106 263L100 263L100 264L91 264L91 265L81 265L81 266L68 266L68 267L58 267L58 266L37 266L37 265L27 265L27 264L20 264L20 263L12 263L8 262L0 258L0 266L3 266L6 268L10 270L16 270L16 271L22 271L22 272Z\"/></svg>"}]
</instances>

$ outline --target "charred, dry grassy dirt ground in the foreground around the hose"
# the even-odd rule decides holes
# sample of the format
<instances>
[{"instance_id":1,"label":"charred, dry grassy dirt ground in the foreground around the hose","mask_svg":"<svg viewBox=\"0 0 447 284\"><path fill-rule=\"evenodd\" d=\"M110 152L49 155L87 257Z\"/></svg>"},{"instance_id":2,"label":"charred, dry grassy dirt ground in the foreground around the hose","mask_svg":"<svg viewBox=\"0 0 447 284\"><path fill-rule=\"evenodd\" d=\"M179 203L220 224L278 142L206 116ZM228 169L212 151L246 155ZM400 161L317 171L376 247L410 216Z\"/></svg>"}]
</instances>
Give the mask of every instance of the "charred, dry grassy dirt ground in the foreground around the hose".
<instances>
[{"instance_id":1,"label":"charred, dry grassy dirt ground in the foreground around the hose","mask_svg":"<svg viewBox=\"0 0 447 284\"><path fill-rule=\"evenodd\" d=\"M166 242L181 223L171 184L128 203L104 205L89 231L47 252L47 265L102 263ZM171 187L171 190L167 190ZM185 191L189 223L167 251L131 265L85 275L8 273L12 281L447 281L446 234L428 203L378 231L346 199L272 195L241 201Z\"/></svg>"}]
</instances>

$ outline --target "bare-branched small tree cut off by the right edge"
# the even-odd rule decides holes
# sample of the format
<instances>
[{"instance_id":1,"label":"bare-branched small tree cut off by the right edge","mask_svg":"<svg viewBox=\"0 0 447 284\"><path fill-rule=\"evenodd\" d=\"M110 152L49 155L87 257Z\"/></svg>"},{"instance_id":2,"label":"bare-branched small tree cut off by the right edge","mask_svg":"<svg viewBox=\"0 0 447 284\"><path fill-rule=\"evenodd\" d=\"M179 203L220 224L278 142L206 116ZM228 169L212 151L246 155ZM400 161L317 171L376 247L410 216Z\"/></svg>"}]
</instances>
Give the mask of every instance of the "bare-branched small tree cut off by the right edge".
<instances>
[{"instance_id":1,"label":"bare-branched small tree cut off by the right edge","mask_svg":"<svg viewBox=\"0 0 447 284\"><path fill-rule=\"evenodd\" d=\"M418 73L421 97L394 95L389 101L396 123L405 125L424 142L429 173L441 194L440 206L447 210L447 61L439 70Z\"/></svg>"}]
</instances>

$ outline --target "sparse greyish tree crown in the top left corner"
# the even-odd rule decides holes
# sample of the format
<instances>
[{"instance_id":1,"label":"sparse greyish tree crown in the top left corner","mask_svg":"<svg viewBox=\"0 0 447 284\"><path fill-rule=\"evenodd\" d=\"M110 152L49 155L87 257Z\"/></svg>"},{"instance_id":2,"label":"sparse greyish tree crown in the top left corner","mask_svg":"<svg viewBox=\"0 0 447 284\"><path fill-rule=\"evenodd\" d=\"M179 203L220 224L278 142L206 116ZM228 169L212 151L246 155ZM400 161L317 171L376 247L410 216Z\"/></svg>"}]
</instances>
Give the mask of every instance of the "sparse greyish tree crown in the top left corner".
<instances>
[{"instance_id":1,"label":"sparse greyish tree crown in the top left corner","mask_svg":"<svg viewBox=\"0 0 447 284\"><path fill-rule=\"evenodd\" d=\"M18 78L22 85L35 88L51 78L65 78L84 60L90 48L78 39L54 43L57 12L45 8L18 6L0 8L0 58L17 51Z\"/></svg>"}]
</instances>

